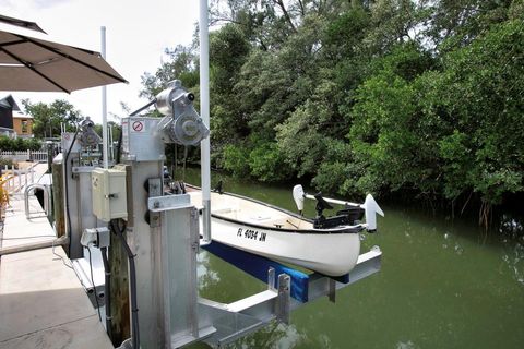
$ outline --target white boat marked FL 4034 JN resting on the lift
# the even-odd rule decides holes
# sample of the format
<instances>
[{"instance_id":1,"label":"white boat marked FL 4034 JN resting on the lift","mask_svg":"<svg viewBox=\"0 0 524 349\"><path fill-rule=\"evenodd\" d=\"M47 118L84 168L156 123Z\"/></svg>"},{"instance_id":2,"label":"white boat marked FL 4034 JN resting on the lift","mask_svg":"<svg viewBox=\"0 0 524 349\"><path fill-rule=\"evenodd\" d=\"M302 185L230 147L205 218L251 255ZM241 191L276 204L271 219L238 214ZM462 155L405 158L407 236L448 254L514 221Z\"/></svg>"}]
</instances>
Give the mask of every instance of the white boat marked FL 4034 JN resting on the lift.
<instances>
[{"instance_id":1,"label":"white boat marked FL 4034 JN resting on the lift","mask_svg":"<svg viewBox=\"0 0 524 349\"><path fill-rule=\"evenodd\" d=\"M188 194L192 204L201 205L200 190L188 185ZM335 221L336 226L330 227L333 224L326 221L331 218L324 218L320 224L323 227L319 227L317 219L231 193L212 192L211 203L214 241L329 276L349 273L360 253L360 232L374 230L367 224L349 222L347 217L341 220L342 215L337 215L337 221L346 224ZM374 205L376 212L383 215ZM355 217L355 209L352 210ZM356 216L361 216L364 209L357 210Z\"/></svg>"}]
</instances>

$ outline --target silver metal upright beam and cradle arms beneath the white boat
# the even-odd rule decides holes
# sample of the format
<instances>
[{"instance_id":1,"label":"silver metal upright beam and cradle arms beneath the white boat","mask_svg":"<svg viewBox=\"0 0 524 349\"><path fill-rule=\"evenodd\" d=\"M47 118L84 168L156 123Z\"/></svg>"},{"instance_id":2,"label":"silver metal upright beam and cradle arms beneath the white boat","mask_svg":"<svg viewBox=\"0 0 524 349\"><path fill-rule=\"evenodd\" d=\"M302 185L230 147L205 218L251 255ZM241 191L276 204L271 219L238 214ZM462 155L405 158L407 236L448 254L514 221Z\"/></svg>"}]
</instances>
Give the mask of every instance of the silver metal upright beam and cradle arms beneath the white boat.
<instances>
[{"instance_id":1,"label":"silver metal upright beam and cradle arms beneath the white boat","mask_svg":"<svg viewBox=\"0 0 524 349\"><path fill-rule=\"evenodd\" d=\"M198 298L198 210L190 204L187 194L150 197L147 206L152 213L160 214L163 227L163 313L165 340L170 348L200 340L219 347L262 328L273 320L289 324L293 310L321 297L329 297L334 302L336 290L373 275L381 267L382 252L374 246L358 257L357 265L345 277L335 279L313 273L307 275L303 282L303 279L299 280L300 277L294 281L290 275L276 275L275 272L294 269L251 255L258 268L267 267L267 290L228 304ZM228 254L231 253L229 251ZM248 267L242 269L252 274ZM291 297L294 284L299 282L307 288L302 292L307 294L306 298Z\"/></svg>"}]
</instances>

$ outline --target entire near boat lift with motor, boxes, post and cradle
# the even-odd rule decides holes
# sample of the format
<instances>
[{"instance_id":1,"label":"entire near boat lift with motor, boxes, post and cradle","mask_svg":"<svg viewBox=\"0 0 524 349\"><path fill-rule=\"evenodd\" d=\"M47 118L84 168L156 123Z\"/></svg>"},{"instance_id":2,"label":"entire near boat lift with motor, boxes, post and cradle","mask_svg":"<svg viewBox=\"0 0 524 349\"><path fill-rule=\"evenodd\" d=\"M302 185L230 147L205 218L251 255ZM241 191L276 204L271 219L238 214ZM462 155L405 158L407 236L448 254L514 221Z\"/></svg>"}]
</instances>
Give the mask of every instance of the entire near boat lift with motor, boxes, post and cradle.
<instances>
[{"instance_id":1,"label":"entire near boat lift with motor, boxes, post and cradle","mask_svg":"<svg viewBox=\"0 0 524 349\"><path fill-rule=\"evenodd\" d=\"M127 221L136 270L135 286L130 287L138 303L138 312L131 309L132 316L138 315L138 326L132 326L136 348L179 348L195 341L222 346L273 320L288 324L293 310L321 297L334 302L336 290L380 270L378 248L360 255L349 274L333 278L201 239L200 213L189 194L165 194L163 183L165 144L195 144L209 135L192 100L192 94L174 82L156 100L166 117L122 119L123 166L92 172L93 213L109 225ZM201 249L266 282L267 289L228 304L200 298Z\"/></svg>"}]
</instances>

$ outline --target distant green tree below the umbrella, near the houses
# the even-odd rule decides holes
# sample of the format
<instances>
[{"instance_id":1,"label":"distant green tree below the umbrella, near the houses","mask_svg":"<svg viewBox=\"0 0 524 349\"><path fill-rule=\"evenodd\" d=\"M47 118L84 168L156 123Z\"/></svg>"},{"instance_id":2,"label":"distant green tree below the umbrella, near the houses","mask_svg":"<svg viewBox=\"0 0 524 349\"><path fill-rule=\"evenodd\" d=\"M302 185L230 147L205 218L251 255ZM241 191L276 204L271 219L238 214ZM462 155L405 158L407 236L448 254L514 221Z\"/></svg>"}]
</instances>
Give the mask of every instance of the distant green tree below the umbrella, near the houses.
<instances>
[{"instance_id":1,"label":"distant green tree below the umbrella, near the houses","mask_svg":"<svg viewBox=\"0 0 524 349\"><path fill-rule=\"evenodd\" d=\"M73 131L75 124L82 119L79 110L67 100L57 99L51 104L36 103L28 99L22 101L25 111L33 117L33 134L36 137L60 136L60 124L68 131Z\"/></svg>"}]
</instances>

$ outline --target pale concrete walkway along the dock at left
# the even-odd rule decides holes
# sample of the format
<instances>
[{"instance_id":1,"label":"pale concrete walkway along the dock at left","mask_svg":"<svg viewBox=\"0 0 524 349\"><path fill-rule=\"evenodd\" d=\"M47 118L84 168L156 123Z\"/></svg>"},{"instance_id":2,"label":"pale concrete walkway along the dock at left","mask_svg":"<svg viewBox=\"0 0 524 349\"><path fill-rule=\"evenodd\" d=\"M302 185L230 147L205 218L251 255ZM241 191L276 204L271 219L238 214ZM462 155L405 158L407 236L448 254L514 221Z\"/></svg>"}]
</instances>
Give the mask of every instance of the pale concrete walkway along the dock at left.
<instances>
[{"instance_id":1,"label":"pale concrete walkway along the dock at left","mask_svg":"<svg viewBox=\"0 0 524 349\"><path fill-rule=\"evenodd\" d=\"M41 210L34 196L29 204ZM53 234L43 215L26 219L22 194L11 197L0 245L52 241ZM0 348L112 348L63 249L55 248L58 256L52 250L0 257Z\"/></svg>"}]
</instances>

